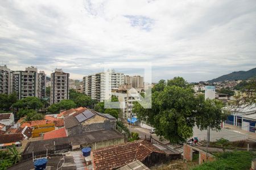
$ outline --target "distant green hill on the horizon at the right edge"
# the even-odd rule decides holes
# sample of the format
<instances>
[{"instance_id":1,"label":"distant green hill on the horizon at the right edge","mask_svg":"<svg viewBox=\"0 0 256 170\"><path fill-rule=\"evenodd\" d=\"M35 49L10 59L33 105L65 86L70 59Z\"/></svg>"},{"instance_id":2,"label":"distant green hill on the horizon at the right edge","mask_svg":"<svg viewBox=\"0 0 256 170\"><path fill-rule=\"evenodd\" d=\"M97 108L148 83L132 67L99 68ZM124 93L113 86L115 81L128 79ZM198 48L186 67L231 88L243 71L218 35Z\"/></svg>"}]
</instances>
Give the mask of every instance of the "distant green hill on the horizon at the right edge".
<instances>
[{"instance_id":1,"label":"distant green hill on the horizon at the right edge","mask_svg":"<svg viewBox=\"0 0 256 170\"><path fill-rule=\"evenodd\" d=\"M208 80L209 83L223 82L225 80L247 80L256 77L256 67L248 71L235 71L230 74L219 76L216 79Z\"/></svg>"}]
</instances>

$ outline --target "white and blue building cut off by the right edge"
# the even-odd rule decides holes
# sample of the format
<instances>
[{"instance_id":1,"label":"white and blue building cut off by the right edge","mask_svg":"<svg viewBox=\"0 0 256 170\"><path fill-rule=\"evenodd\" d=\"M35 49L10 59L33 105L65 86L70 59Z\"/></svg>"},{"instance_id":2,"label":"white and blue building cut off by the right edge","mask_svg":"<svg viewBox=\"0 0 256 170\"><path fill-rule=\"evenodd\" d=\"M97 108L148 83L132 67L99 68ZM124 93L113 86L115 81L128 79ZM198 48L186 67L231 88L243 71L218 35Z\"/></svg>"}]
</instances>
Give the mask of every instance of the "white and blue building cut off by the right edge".
<instances>
[{"instance_id":1,"label":"white and blue building cut off by the right edge","mask_svg":"<svg viewBox=\"0 0 256 170\"><path fill-rule=\"evenodd\" d=\"M250 131L255 133L256 124L256 104L252 105L242 105L240 108L225 108L231 111L225 121L226 124L237 126L242 130Z\"/></svg>"}]
</instances>

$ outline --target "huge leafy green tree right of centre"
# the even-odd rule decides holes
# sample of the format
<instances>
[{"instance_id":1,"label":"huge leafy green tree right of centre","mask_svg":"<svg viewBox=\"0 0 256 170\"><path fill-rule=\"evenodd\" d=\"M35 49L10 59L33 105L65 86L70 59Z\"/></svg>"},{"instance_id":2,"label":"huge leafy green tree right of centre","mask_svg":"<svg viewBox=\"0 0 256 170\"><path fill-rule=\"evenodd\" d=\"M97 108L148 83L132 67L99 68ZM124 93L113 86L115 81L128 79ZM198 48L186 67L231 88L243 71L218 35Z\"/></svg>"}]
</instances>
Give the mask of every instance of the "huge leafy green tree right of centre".
<instances>
[{"instance_id":1,"label":"huge leafy green tree right of centre","mask_svg":"<svg viewBox=\"0 0 256 170\"><path fill-rule=\"evenodd\" d=\"M222 106L221 101L195 96L191 85L177 77L155 84L151 109L144 109L135 102L133 112L137 113L139 120L154 126L157 135L178 143L193 135L195 125L201 130L208 126L213 130L221 129L221 121L226 119Z\"/></svg>"}]
</instances>

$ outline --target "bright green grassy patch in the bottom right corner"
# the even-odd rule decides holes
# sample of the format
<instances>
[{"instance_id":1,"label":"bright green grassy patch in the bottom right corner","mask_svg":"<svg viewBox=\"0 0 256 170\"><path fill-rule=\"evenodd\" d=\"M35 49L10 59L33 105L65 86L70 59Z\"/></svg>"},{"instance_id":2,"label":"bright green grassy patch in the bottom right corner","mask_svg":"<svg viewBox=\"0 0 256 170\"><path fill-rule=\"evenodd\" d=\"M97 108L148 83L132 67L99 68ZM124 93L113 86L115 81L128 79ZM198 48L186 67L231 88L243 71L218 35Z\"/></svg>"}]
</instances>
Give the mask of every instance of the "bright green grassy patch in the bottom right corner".
<instances>
[{"instance_id":1,"label":"bright green grassy patch in the bottom right corner","mask_svg":"<svg viewBox=\"0 0 256 170\"><path fill-rule=\"evenodd\" d=\"M247 151L233 151L233 152L224 152L217 155L217 160L213 162L207 162L201 164L193 170L214 170L214 169L223 169L223 170L247 170L251 167L251 160L256 158L254 152Z\"/></svg>"}]
</instances>

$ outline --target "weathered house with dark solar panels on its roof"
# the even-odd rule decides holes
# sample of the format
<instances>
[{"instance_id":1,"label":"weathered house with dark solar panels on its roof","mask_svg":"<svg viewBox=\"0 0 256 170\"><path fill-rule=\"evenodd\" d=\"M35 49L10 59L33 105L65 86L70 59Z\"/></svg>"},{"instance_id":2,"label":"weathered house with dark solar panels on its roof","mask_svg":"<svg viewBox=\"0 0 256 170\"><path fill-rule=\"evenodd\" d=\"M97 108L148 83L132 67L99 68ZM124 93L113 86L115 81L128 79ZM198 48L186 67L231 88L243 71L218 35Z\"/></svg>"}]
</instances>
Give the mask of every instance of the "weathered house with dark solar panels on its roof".
<instances>
[{"instance_id":1,"label":"weathered house with dark solar panels on its roof","mask_svg":"<svg viewBox=\"0 0 256 170\"><path fill-rule=\"evenodd\" d=\"M110 114L102 114L89 109L79 114L72 114L64 118L64 125L68 136L93 130L115 129L116 119Z\"/></svg>"}]
</instances>

